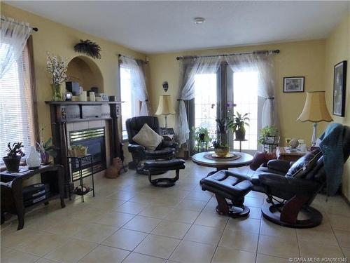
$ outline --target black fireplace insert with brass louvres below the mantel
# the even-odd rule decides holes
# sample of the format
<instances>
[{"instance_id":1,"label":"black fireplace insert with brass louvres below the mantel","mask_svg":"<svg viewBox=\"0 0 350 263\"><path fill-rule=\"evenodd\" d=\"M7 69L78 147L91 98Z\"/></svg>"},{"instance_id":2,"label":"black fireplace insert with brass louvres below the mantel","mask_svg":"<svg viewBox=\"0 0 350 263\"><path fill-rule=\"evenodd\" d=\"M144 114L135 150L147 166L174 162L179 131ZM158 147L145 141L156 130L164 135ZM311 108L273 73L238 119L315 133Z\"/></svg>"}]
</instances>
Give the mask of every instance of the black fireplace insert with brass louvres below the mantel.
<instances>
[{"instance_id":1,"label":"black fireplace insert with brass louvres below the mantel","mask_svg":"<svg viewBox=\"0 0 350 263\"><path fill-rule=\"evenodd\" d=\"M69 144L87 147L87 153L92 154L94 173L106 169L106 143L104 127L86 130L73 130L69 132ZM83 177L90 175L90 160L82 161ZM78 161L71 163L73 180L79 177Z\"/></svg>"}]
</instances>

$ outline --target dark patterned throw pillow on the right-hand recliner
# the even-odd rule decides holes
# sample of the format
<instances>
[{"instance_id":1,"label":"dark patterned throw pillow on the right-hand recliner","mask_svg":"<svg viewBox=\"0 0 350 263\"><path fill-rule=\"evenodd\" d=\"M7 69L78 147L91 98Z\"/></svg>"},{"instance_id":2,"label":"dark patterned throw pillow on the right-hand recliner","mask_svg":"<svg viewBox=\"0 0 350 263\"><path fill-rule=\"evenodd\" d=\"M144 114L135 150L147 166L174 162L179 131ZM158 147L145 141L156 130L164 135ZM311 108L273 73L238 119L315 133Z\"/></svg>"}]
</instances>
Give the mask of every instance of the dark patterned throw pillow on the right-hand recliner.
<instances>
[{"instance_id":1,"label":"dark patterned throw pillow on the right-hand recliner","mask_svg":"<svg viewBox=\"0 0 350 263\"><path fill-rule=\"evenodd\" d=\"M322 151L314 150L302 156L292 166L290 166L287 176L303 178L316 166L317 160L322 156Z\"/></svg>"}]
</instances>

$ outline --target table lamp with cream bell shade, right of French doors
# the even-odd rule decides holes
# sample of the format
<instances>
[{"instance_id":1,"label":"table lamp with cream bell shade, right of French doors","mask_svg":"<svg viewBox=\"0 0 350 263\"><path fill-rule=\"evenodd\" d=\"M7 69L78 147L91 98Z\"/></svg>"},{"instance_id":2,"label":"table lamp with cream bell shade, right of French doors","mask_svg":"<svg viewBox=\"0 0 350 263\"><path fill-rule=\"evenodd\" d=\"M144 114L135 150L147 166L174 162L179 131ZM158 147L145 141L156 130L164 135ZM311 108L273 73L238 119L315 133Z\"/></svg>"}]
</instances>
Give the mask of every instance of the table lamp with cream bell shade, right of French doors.
<instances>
[{"instance_id":1,"label":"table lamp with cream bell shade, right of French doors","mask_svg":"<svg viewBox=\"0 0 350 263\"><path fill-rule=\"evenodd\" d=\"M327 104L325 104L325 91L309 91L307 92L307 99L304 104L304 109L300 114L299 121L311 121L314 126L311 137L311 147L316 145L317 123L320 121L332 121Z\"/></svg>"}]
</instances>

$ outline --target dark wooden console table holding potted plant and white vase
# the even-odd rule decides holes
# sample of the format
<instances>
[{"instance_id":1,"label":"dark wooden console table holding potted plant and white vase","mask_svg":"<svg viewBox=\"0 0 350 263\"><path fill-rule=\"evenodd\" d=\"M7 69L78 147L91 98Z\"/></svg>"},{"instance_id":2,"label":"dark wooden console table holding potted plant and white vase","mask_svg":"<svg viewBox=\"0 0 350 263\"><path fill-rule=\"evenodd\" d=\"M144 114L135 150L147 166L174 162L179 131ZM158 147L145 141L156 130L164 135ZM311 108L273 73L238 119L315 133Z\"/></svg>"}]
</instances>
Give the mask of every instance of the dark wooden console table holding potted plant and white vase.
<instances>
[{"instance_id":1,"label":"dark wooden console table holding potted plant and white vase","mask_svg":"<svg viewBox=\"0 0 350 263\"><path fill-rule=\"evenodd\" d=\"M48 201L60 198L64 208L64 168L60 165L42 166L36 170L27 170L23 173L0 173L1 184L1 224L4 222L4 213L18 215L18 230L25 225L25 203L23 201L23 180L34 175L41 175L43 184L50 184L50 195L38 203L48 204ZM35 203L33 205L36 205Z\"/></svg>"}]
</instances>

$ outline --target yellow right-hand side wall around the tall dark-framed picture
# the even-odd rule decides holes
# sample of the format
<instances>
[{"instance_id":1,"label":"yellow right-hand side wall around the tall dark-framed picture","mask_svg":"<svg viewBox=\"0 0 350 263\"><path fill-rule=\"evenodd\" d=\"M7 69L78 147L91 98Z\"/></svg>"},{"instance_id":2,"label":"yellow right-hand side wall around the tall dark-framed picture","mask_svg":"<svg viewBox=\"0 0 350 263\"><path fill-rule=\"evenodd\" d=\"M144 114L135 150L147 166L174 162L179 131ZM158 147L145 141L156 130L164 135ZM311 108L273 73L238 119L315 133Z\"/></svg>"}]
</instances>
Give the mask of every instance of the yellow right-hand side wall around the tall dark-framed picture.
<instances>
[{"instance_id":1,"label":"yellow right-hand side wall around the tall dark-framed picture","mask_svg":"<svg viewBox=\"0 0 350 263\"><path fill-rule=\"evenodd\" d=\"M342 60L347 60L348 63L345 116L332 115L332 118L337 123L350 126L350 13L335 27L325 41L325 90L328 105L332 105L333 67ZM342 191L346 198L350 199L350 161L347 161L344 167Z\"/></svg>"}]
</instances>

